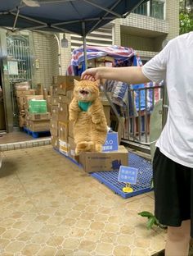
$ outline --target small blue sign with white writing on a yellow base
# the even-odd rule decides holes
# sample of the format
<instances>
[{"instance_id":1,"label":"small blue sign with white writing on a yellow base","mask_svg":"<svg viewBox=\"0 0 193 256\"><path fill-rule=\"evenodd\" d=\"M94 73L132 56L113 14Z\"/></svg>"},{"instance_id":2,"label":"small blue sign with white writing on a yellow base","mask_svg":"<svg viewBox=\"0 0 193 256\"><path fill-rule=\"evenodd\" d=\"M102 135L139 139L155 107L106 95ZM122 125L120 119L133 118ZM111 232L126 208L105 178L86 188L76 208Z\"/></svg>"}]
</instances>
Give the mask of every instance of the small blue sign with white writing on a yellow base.
<instances>
[{"instance_id":1,"label":"small blue sign with white writing on a yellow base","mask_svg":"<svg viewBox=\"0 0 193 256\"><path fill-rule=\"evenodd\" d=\"M136 184L137 172L138 172L137 168L121 166L119 168L118 181L124 182L124 183Z\"/></svg>"}]
</instances>

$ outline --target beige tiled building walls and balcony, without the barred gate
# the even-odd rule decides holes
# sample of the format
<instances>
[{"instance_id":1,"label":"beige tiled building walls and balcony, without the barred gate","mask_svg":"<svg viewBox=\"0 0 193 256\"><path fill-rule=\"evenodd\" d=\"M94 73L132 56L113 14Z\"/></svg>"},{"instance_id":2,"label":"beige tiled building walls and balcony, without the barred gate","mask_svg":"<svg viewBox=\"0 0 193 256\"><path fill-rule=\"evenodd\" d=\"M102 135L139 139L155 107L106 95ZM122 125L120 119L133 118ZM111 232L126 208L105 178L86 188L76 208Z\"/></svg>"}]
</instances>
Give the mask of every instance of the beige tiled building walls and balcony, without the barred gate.
<instances>
[{"instance_id":1,"label":"beige tiled building walls and balcony, without the barred gate","mask_svg":"<svg viewBox=\"0 0 193 256\"><path fill-rule=\"evenodd\" d=\"M151 0L137 7L125 19L116 19L108 25L93 31L87 36L88 45L121 45L131 47L139 53L142 60L149 60L162 49L164 40L179 34L179 1ZM39 59L39 70L35 69L37 82L47 86L51 75L65 75L69 66L71 52L83 45L82 37L65 34L68 48L61 48L63 34L55 35L33 33L35 56ZM50 57L48 57L48 53ZM59 53L59 56L56 56ZM43 63L43 65L41 65ZM61 68L60 68L61 66Z\"/></svg>"}]
</instances>

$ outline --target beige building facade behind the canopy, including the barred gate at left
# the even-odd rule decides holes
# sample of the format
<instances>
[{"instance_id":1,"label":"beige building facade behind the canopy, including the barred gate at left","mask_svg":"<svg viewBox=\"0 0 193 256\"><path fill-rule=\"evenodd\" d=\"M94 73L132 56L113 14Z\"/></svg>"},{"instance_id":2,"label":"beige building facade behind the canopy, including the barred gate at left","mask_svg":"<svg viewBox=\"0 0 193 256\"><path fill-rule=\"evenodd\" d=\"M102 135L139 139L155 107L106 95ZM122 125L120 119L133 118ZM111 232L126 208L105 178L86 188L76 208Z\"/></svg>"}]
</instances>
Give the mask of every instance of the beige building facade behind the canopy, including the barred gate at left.
<instances>
[{"instance_id":1,"label":"beige building facade behind the canopy, including the barred gate at left","mask_svg":"<svg viewBox=\"0 0 193 256\"><path fill-rule=\"evenodd\" d=\"M163 42L179 33L179 1L150 0L137 7L125 19L116 19L87 36L88 45L112 44L131 47L146 62L163 47ZM52 76L65 75L74 48L83 45L82 37L65 34L68 47L61 47L63 34L21 31L17 34L0 29L0 58L4 118L11 131L14 126L13 87L17 81L29 80L32 88L41 83L52 85ZM165 41L166 40L166 41ZM10 75L9 62L17 61L19 73ZM2 114L1 114L2 115ZM0 129L3 129L0 127Z\"/></svg>"}]
</instances>

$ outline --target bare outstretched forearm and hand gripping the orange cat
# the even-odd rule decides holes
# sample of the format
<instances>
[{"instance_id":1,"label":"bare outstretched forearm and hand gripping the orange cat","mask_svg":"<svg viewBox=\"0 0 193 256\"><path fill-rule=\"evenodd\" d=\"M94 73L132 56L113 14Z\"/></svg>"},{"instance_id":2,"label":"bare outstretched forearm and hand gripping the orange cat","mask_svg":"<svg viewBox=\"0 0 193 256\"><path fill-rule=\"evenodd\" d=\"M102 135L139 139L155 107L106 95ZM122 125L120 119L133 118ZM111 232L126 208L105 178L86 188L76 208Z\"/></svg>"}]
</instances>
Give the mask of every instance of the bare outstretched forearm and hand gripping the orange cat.
<instances>
[{"instance_id":1,"label":"bare outstretched forearm and hand gripping the orange cat","mask_svg":"<svg viewBox=\"0 0 193 256\"><path fill-rule=\"evenodd\" d=\"M128 84L142 84L150 80L143 74L141 66L126 67L94 67L84 71L81 75L83 80L117 80Z\"/></svg>"}]
</instances>

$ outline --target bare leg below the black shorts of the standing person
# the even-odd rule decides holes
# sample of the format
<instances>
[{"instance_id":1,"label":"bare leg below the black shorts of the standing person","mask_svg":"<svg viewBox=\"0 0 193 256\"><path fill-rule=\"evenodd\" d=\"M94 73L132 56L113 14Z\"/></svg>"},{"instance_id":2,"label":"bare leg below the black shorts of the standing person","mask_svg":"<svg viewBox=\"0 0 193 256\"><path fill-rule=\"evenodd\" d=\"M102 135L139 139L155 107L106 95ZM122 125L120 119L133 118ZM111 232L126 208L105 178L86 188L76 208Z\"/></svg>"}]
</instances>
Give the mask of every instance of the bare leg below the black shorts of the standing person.
<instances>
[{"instance_id":1,"label":"bare leg below the black shorts of the standing person","mask_svg":"<svg viewBox=\"0 0 193 256\"><path fill-rule=\"evenodd\" d=\"M165 256L187 256L191 239L191 221L182 222L182 226L168 226Z\"/></svg>"}]
</instances>

